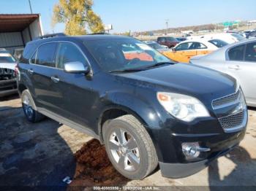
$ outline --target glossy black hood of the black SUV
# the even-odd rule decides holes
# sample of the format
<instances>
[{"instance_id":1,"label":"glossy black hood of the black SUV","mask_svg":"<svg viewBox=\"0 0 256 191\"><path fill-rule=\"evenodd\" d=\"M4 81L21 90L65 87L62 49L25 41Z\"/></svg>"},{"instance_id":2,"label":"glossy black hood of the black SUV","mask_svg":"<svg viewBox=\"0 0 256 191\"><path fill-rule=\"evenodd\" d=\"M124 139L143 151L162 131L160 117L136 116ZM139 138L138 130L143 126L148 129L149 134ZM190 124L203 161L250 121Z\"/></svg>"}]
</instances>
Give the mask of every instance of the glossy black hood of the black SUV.
<instances>
[{"instance_id":1,"label":"glossy black hood of the black SUV","mask_svg":"<svg viewBox=\"0 0 256 191\"><path fill-rule=\"evenodd\" d=\"M233 77L185 63L117 75L143 82L143 84L154 84L157 91L183 93L201 99L213 100L236 91L236 79Z\"/></svg>"}]
</instances>

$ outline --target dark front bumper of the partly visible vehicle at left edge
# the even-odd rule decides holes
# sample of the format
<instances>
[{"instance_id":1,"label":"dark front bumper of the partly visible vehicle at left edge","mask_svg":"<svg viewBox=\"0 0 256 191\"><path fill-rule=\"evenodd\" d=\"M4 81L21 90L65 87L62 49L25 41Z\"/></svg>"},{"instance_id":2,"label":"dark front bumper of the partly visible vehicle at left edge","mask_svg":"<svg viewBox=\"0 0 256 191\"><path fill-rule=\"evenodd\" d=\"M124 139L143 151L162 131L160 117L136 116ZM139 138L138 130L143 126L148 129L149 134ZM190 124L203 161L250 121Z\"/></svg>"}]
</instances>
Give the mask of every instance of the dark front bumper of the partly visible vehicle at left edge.
<instances>
[{"instance_id":1,"label":"dark front bumper of the partly visible vehicle at left edge","mask_svg":"<svg viewBox=\"0 0 256 191\"><path fill-rule=\"evenodd\" d=\"M18 93L16 79L7 79L0 81L0 98Z\"/></svg>"}]
</instances>

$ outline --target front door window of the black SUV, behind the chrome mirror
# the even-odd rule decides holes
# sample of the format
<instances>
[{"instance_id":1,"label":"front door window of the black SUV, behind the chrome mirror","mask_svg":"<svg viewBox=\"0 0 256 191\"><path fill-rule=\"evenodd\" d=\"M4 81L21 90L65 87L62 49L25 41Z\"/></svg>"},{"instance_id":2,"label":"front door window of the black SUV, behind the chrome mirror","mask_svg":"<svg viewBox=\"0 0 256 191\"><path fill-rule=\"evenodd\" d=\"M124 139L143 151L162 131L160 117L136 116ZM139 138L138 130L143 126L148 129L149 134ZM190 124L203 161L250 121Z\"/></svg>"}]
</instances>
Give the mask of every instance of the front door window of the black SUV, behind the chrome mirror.
<instances>
[{"instance_id":1,"label":"front door window of the black SUV, behind the chrome mirror","mask_svg":"<svg viewBox=\"0 0 256 191\"><path fill-rule=\"evenodd\" d=\"M64 69L64 63L70 62L81 62L85 64L86 58L84 58L83 54L78 50L78 47L75 47L74 44L60 43L57 52L56 67Z\"/></svg>"}]
</instances>

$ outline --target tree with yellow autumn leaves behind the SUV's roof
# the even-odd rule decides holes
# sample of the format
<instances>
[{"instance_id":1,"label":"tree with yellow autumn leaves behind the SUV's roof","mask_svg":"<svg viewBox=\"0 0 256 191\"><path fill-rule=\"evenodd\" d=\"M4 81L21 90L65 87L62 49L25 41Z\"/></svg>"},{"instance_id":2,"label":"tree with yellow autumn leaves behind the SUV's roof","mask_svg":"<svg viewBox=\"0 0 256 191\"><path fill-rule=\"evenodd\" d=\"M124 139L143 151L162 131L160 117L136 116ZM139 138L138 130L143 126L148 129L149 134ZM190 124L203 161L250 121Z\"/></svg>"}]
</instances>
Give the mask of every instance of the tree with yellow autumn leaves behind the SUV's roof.
<instances>
[{"instance_id":1,"label":"tree with yellow autumn leaves behind the SUV's roof","mask_svg":"<svg viewBox=\"0 0 256 191\"><path fill-rule=\"evenodd\" d=\"M65 33L68 35L99 33L104 26L99 15L92 10L93 0L59 0L53 7L52 25L65 23Z\"/></svg>"}]
</instances>

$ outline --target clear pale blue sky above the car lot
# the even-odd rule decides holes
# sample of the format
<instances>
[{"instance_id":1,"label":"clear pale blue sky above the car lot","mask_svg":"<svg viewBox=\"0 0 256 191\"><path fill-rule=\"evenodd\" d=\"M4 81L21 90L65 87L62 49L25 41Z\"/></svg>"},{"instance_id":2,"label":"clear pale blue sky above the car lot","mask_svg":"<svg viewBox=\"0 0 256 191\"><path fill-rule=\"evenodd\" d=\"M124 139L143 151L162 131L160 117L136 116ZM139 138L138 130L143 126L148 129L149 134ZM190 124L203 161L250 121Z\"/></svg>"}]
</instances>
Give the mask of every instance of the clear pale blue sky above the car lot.
<instances>
[{"instance_id":1,"label":"clear pale blue sky above the car lot","mask_svg":"<svg viewBox=\"0 0 256 191\"><path fill-rule=\"evenodd\" d=\"M64 24L51 27L53 5L59 0L31 0L41 14L45 33L63 32ZM165 28L256 20L255 0L94 0L94 12L113 31L151 31ZM29 0L0 0L0 14L30 13Z\"/></svg>"}]
</instances>

